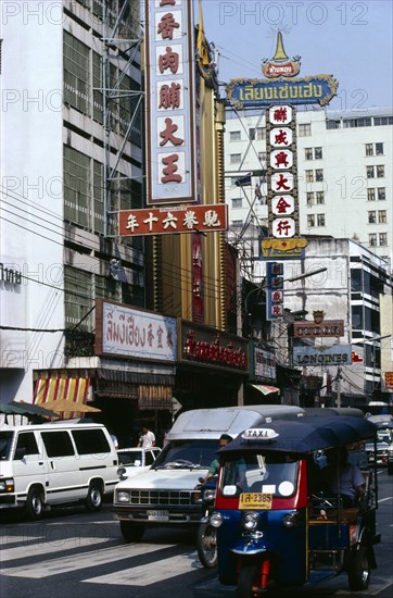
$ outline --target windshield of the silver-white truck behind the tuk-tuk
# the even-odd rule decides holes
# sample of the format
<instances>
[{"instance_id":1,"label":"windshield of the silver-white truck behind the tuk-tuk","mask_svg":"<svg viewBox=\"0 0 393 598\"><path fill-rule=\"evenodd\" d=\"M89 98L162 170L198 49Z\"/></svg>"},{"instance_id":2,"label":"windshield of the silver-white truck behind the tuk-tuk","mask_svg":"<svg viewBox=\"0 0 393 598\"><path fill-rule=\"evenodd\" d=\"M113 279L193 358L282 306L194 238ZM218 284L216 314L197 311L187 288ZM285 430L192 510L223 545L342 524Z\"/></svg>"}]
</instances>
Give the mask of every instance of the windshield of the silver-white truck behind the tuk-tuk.
<instances>
[{"instance_id":1,"label":"windshield of the silver-white truck behind the tuk-tuk","mask_svg":"<svg viewBox=\"0 0 393 598\"><path fill-rule=\"evenodd\" d=\"M154 470L206 470L218 449L217 440L170 440L154 462Z\"/></svg>"}]
</instances>

